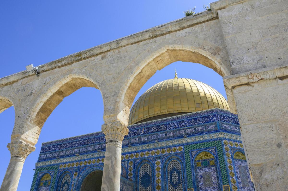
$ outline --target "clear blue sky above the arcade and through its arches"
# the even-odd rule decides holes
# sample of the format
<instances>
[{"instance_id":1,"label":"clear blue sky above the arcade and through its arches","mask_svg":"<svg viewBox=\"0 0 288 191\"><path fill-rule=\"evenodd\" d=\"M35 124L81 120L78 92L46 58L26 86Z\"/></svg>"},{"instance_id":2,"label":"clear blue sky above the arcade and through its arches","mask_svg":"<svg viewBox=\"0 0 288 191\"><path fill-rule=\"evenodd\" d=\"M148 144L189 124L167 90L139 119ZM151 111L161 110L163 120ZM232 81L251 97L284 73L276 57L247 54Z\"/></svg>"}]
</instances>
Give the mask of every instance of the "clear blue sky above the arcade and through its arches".
<instances>
[{"instance_id":1,"label":"clear blue sky above the arcade and through its arches","mask_svg":"<svg viewBox=\"0 0 288 191\"><path fill-rule=\"evenodd\" d=\"M184 17L183 11L213 1L1 1L0 77ZM195 63L175 62L157 71L134 101L152 85L174 77L202 81L226 93L222 77ZM84 104L83 104L84 102ZM0 114L0 181L10 160L6 148L14 126L14 108ZM63 100L44 124L36 150L23 167L18 191L30 190L41 143L101 130L103 100L98 89L83 87ZM2 181L1 181L2 182Z\"/></svg>"}]
</instances>

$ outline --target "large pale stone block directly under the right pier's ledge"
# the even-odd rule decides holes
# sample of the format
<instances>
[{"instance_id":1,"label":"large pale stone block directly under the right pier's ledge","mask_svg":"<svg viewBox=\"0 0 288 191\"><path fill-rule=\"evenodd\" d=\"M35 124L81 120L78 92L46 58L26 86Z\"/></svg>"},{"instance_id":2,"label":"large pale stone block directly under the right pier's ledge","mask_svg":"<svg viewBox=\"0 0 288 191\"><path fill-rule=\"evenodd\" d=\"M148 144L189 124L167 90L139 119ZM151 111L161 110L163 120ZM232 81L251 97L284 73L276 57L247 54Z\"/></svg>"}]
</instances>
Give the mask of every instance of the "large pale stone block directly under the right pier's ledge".
<instances>
[{"instance_id":1,"label":"large pale stone block directly under the right pier's ledge","mask_svg":"<svg viewBox=\"0 0 288 191\"><path fill-rule=\"evenodd\" d=\"M259 76L257 78L261 79ZM262 82L265 84L261 84ZM240 124L287 117L288 102L280 100L288 100L288 85L276 85L276 82L276 79L267 80L266 82L259 81L259 85L255 86L253 90L247 89L243 92L234 92Z\"/></svg>"}]
</instances>

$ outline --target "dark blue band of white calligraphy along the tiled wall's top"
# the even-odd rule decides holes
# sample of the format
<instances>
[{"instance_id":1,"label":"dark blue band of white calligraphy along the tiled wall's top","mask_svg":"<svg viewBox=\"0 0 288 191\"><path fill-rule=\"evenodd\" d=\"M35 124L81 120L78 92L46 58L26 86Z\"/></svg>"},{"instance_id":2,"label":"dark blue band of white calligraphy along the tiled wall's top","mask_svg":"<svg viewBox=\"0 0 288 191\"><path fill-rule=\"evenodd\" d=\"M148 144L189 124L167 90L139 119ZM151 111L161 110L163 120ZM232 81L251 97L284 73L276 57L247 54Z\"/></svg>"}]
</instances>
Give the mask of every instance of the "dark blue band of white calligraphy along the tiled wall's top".
<instances>
[{"instance_id":1,"label":"dark blue band of white calligraphy along the tiled wall's top","mask_svg":"<svg viewBox=\"0 0 288 191\"><path fill-rule=\"evenodd\" d=\"M128 126L129 133L125 137L125 139L139 135L151 134L159 131L190 127L216 121L228 122L231 124L239 125L239 121L236 115L226 110L211 109L202 112L195 112L191 114L170 117L163 120L156 120L143 124ZM58 141L43 143L40 153L75 148L79 146L91 145L102 142L105 142L105 136L103 132L96 132L68 139L61 139Z\"/></svg>"}]
</instances>

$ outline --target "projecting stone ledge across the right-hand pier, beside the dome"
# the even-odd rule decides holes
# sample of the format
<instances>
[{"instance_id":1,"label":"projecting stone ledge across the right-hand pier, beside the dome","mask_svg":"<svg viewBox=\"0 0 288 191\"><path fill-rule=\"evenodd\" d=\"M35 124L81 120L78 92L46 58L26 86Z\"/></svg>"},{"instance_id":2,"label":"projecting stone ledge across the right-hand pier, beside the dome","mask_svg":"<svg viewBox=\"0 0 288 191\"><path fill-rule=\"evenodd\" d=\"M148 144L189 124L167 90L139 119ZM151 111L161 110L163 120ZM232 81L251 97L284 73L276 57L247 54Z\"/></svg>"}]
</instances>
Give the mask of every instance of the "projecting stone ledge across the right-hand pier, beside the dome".
<instances>
[{"instance_id":1,"label":"projecting stone ledge across the right-hand pier, beside the dome","mask_svg":"<svg viewBox=\"0 0 288 191\"><path fill-rule=\"evenodd\" d=\"M272 66L257 70L252 70L240 74L223 77L224 85L229 89L236 86L247 85L262 80L288 78L288 65Z\"/></svg>"}]
</instances>

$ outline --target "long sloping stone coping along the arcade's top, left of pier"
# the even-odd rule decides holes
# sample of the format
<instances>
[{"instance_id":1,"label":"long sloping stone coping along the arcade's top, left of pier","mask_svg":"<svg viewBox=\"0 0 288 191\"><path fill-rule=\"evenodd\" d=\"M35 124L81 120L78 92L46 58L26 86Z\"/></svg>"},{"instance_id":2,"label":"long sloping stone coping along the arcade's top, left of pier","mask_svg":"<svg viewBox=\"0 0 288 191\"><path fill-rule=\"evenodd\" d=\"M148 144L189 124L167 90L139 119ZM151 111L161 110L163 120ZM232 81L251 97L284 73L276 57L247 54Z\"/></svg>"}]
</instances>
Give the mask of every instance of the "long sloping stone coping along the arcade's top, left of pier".
<instances>
[{"instance_id":1,"label":"long sloping stone coping along the arcade's top, left of pier","mask_svg":"<svg viewBox=\"0 0 288 191\"><path fill-rule=\"evenodd\" d=\"M43 71L48 71L48 70L52 70L55 68L63 67L65 65L70 65L74 62L88 59L92 56L96 56L97 54L101 54L103 52L107 52L115 48L120 48L120 47L128 46L129 44L135 44L135 43L148 40L151 38L163 36L171 32L189 28L195 24L207 22L215 18L217 18L217 15L215 15L211 11L203 11L200 13L196 13L191 16L183 17L181 19L174 20L172 22L168 22L159 26L155 26L155 27L149 28L147 30L143 30L135 34L131 34L129 36L125 36L123 38L113 40L111 42L107 42L104 44L100 44L98 46L94 46L93 48L89 48L87 50L83 50L80 52L76 52L74 54L70 54L68 56L62 57L55 61L43 64L43 65L39 65L38 70L39 72L43 72ZM0 86L13 83L15 81L18 81L24 77L31 76L31 75L35 75L35 74L31 72L21 71L19 73L15 73L15 74L0 78Z\"/></svg>"}]
</instances>

